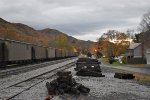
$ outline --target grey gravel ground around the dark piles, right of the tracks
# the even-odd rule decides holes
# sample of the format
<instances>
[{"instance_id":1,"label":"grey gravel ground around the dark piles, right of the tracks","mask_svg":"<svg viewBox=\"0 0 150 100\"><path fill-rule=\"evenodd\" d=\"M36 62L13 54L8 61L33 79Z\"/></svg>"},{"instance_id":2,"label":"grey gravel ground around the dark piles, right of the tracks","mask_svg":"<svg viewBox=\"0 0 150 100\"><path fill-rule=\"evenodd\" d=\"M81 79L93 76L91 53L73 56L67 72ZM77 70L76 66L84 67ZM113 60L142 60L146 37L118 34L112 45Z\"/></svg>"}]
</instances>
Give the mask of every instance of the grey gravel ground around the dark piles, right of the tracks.
<instances>
[{"instance_id":1,"label":"grey gravel ground around the dark piles, right of the tracks","mask_svg":"<svg viewBox=\"0 0 150 100\"><path fill-rule=\"evenodd\" d=\"M150 86L141 85L136 80L116 79L113 77L115 69L102 67L105 77L78 77L75 75L74 67L67 70L72 71L78 83L89 87L90 93L59 95L54 96L52 100L150 100ZM48 95L45 84L54 78L56 77L36 85L12 100L44 100Z\"/></svg>"}]
</instances>

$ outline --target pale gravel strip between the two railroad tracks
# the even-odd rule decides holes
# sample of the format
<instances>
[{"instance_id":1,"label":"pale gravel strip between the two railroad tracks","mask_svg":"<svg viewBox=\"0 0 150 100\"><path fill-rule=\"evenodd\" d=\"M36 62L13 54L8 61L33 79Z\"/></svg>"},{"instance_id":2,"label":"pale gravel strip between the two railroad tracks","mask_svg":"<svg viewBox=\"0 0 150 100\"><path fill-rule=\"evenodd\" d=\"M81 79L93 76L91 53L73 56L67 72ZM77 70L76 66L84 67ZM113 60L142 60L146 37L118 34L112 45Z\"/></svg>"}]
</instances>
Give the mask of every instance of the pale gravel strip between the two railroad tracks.
<instances>
[{"instance_id":1,"label":"pale gravel strip between the two railroad tracks","mask_svg":"<svg viewBox=\"0 0 150 100\"><path fill-rule=\"evenodd\" d=\"M12 75L9 77L0 78L0 95L1 95L1 90L4 88L7 88L11 85L22 82L24 80L36 77L36 76L41 75L43 73L49 72L51 70L54 70L56 68L59 68L61 66L64 66L64 65L69 64L69 63L74 62L74 61L76 61L76 59L64 61L64 62L57 63L54 65L49 65L49 66L46 66L44 68L39 68L39 69L32 70L29 72L21 73L18 75Z\"/></svg>"}]
</instances>

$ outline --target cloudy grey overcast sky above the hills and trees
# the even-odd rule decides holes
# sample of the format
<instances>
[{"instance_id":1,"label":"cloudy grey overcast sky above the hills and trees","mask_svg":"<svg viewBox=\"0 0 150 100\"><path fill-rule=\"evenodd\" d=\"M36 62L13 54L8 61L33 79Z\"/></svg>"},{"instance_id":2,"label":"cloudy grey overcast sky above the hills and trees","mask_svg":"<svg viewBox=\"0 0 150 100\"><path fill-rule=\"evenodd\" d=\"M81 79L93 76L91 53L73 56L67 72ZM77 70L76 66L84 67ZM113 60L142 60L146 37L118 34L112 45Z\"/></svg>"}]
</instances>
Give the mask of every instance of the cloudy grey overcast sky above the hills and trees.
<instances>
[{"instance_id":1,"label":"cloudy grey overcast sky above the hills and trees","mask_svg":"<svg viewBox=\"0 0 150 100\"><path fill-rule=\"evenodd\" d=\"M108 29L136 29L150 0L0 0L0 17L96 41Z\"/></svg>"}]
</instances>

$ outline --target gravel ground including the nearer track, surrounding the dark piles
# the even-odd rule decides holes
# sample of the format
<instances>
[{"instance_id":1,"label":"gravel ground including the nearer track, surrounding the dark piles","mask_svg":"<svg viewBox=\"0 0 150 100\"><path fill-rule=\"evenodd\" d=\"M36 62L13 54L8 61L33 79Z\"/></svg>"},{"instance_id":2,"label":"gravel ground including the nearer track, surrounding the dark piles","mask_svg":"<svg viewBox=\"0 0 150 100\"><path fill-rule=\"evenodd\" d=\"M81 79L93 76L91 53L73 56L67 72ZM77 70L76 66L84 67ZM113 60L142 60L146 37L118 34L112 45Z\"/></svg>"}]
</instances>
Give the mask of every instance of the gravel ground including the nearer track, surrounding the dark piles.
<instances>
[{"instance_id":1,"label":"gravel ground including the nearer track, surrounding the dark piles","mask_svg":"<svg viewBox=\"0 0 150 100\"><path fill-rule=\"evenodd\" d=\"M150 86L133 80L114 78L115 68L101 65L105 77L77 76L76 61L67 59L53 65L18 73L0 79L1 100L44 100L48 96L46 83L56 79L58 71L71 71L76 82L90 89L88 94L53 95L51 100L149 100ZM120 72L120 70L119 70ZM140 92L139 92L140 91Z\"/></svg>"}]
</instances>

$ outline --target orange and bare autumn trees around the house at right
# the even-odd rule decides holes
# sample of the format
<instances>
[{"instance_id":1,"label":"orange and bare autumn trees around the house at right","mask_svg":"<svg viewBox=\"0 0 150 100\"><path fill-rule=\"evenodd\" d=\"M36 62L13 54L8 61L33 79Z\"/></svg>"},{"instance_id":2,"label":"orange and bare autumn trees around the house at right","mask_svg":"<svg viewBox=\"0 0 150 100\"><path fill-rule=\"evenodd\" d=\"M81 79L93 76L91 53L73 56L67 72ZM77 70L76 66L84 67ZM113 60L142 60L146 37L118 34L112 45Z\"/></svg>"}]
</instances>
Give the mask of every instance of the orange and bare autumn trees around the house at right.
<instances>
[{"instance_id":1,"label":"orange and bare autumn trees around the house at right","mask_svg":"<svg viewBox=\"0 0 150 100\"><path fill-rule=\"evenodd\" d=\"M120 56L127 53L131 43L130 39L135 43L144 44L146 48L150 48L150 11L143 15L137 30L138 33L135 33L132 29L128 29L126 32L108 30L98 39L97 51L107 57Z\"/></svg>"}]
</instances>

